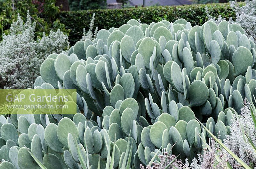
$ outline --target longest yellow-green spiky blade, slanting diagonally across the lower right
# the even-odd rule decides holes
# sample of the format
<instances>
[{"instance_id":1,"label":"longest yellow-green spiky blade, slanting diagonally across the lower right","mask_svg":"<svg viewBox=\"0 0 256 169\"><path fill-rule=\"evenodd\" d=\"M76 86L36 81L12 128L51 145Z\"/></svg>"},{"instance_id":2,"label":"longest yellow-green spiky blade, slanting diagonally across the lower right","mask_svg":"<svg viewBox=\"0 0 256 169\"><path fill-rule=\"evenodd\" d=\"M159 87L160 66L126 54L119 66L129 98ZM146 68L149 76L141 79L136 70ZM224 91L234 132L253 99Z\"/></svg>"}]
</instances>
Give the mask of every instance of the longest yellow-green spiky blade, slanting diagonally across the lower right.
<instances>
[{"instance_id":1,"label":"longest yellow-green spiky blade, slanting diagonally across the lower right","mask_svg":"<svg viewBox=\"0 0 256 169\"><path fill-rule=\"evenodd\" d=\"M201 123L200 120L198 120L196 118L196 120L202 125L202 127L214 138L214 140L216 142L218 142L226 151L228 151L228 153L236 159L236 161L242 165L242 167L244 167L245 169L251 169L247 164L244 163L244 161L242 161L239 157L237 157L237 155L235 153L233 153L227 146L225 146L216 136L214 136L214 134L212 134L212 132L210 130L208 130L203 123Z\"/></svg>"}]
</instances>

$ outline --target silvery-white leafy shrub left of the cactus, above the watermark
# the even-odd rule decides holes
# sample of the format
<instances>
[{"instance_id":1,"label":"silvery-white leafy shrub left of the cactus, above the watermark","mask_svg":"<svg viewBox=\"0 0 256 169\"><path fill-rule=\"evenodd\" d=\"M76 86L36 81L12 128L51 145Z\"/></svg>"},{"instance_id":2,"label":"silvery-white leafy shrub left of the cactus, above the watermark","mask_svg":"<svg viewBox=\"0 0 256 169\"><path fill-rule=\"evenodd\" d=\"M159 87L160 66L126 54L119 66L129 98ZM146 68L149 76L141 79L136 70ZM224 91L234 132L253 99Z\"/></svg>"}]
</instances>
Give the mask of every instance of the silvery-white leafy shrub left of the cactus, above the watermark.
<instances>
[{"instance_id":1,"label":"silvery-white leafy shrub left of the cactus, above the watermark","mask_svg":"<svg viewBox=\"0 0 256 169\"><path fill-rule=\"evenodd\" d=\"M10 34L3 35L0 42L0 89L32 88L44 59L68 48L68 36L60 30L35 40L35 26L29 13L25 24L18 15L10 27Z\"/></svg>"}]
</instances>

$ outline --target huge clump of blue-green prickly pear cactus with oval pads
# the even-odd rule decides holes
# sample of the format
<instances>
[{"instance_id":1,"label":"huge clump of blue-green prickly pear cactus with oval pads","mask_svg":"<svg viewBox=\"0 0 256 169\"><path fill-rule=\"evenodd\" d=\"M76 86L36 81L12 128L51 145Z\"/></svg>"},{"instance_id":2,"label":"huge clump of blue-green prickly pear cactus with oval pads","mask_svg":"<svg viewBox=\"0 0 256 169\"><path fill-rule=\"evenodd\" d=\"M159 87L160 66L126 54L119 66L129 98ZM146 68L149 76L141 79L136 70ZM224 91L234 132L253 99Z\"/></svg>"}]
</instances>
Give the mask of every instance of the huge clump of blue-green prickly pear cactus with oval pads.
<instances>
[{"instance_id":1,"label":"huge clump of blue-green prickly pear cactus with oval pads","mask_svg":"<svg viewBox=\"0 0 256 169\"><path fill-rule=\"evenodd\" d=\"M254 101L255 61L253 39L227 21L132 19L100 30L93 41L49 55L34 84L76 89L77 112L0 116L0 169L39 168L26 147L47 168L81 168L72 140L90 168L106 168L112 150L114 168L126 163L126 149L128 168L157 162L158 149L191 160L211 137L196 118L223 140L243 100Z\"/></svg>"}]
</instances>

